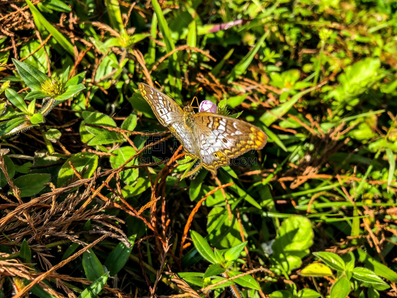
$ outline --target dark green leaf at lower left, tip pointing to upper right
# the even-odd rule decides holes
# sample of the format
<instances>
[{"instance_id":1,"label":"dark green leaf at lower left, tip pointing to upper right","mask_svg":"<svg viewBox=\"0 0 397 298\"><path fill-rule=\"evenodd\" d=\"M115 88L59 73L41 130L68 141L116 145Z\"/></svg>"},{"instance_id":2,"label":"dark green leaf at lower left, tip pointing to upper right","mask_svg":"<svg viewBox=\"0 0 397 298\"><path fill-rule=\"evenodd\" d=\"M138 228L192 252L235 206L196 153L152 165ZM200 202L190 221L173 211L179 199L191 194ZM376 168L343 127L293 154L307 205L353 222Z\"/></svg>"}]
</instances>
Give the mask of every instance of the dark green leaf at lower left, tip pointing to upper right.
<instances>
[{"instance_id":1,"label":"dark green leaf at lower left, tip pointing to upper right","mask_svg":"<svg viewBox=\"0 0 397 298\"><path fill-rule=\"evenodd\" d=\"M115 276L123 267L126 265L128 258L131 254L133 243L135 241L136 234L128 237L128 241L131 246L127 247L126 243L120 242L110 252L105 260L105 266L109 271L110 276Z\"/></svg>"}]
</instances>

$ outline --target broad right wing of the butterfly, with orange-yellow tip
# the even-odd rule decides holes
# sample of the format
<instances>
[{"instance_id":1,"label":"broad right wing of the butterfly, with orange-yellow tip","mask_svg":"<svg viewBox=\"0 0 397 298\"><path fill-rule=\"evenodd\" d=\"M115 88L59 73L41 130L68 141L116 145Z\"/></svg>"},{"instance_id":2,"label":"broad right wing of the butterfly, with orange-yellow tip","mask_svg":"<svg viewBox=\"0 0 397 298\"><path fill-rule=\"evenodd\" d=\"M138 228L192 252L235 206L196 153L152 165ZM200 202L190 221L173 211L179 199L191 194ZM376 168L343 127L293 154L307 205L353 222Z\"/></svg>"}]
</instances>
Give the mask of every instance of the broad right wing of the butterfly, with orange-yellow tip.
<instances>
[{"instance_id":1,"label":"broad right wing of the butterfly, with orange-yellow tip","mask_svg":"<svg viewBox=\"0 0 397 298\"><path fill-rule=\"evenodd\" d=\"M192 120L202 165L213 174L229 165L230 158L266 145L266 134L245 121L205 112L192 115Z\"/></svg>"}]
</instances>

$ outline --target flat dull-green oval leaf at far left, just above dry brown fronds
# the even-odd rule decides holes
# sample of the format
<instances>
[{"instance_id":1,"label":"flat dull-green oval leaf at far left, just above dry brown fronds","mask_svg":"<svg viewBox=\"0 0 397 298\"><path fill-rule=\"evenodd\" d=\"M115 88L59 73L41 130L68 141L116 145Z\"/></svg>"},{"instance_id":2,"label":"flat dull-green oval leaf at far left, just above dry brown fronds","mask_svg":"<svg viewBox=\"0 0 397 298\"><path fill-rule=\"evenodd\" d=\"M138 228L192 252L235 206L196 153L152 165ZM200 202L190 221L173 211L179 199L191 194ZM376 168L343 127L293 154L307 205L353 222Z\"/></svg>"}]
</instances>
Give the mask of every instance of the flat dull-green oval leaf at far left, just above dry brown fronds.
<instances>
[{"instance_id":1,"label":"flat dull-green oval leaf at far left, just above dry brown fronds","mask_svg":"<svg viewBox=\"0 0 397 298\"><path fill-rule=\"evenodd\" d=\"M51 180L50 174L26 174L19 176L13 182L19 188L21 198L31 197L44 189L45 183Z\"/></svg>"}]
</instances>

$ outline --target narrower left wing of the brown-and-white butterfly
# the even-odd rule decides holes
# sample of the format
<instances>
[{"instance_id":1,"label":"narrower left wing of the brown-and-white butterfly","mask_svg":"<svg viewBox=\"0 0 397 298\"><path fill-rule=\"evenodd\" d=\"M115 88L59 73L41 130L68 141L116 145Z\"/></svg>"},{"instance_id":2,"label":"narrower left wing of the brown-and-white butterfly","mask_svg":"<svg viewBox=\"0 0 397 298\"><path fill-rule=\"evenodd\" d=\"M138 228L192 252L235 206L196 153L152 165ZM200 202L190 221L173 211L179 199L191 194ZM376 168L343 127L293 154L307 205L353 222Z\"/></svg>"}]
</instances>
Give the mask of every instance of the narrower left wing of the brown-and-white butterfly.
<instances>
[{"instance_id":1,"label":"narrower left wing of the brown-and-white butterfly","mask_svg":"<svg viewBox=\"0 0 397 298\"><path fill-rule=\"evenodd\" d=\"M182 108L172 98L147 84L139 83L138 87L140 94L150 105L161 125L166 126L171 131L189 155L197 157L193 145L193 132L185 124L185 112Z\"/></svg>"}]
</instances>

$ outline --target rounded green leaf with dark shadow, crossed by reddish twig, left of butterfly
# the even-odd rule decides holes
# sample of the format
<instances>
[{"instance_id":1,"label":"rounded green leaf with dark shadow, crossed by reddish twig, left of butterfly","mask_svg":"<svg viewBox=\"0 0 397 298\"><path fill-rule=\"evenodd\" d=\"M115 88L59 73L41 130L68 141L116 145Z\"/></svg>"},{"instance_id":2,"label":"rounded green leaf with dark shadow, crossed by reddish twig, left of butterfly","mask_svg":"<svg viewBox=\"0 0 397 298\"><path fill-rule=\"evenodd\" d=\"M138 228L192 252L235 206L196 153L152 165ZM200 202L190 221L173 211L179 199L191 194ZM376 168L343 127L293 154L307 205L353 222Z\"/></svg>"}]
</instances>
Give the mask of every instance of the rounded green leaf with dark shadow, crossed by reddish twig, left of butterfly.
<instances>
[{"instance_id":1,"label":"rounded green leaf with dark shadow, crossed by reddish twig, left of butterfly","mask_svg":"<svg viewBox=\"0 0 397 298\"><path fill-rule=\"evenodd\" d=\"M78 172L81 173L81 171L84 170L84 173L81 175L83 178L89 178L94 174L94 171L98 166L98 155L90 152L81 152L68 158L59 172L57 182L58 187L65 185L74 174L69 161L71 161Z\"/></svg>"}]
</instances>

